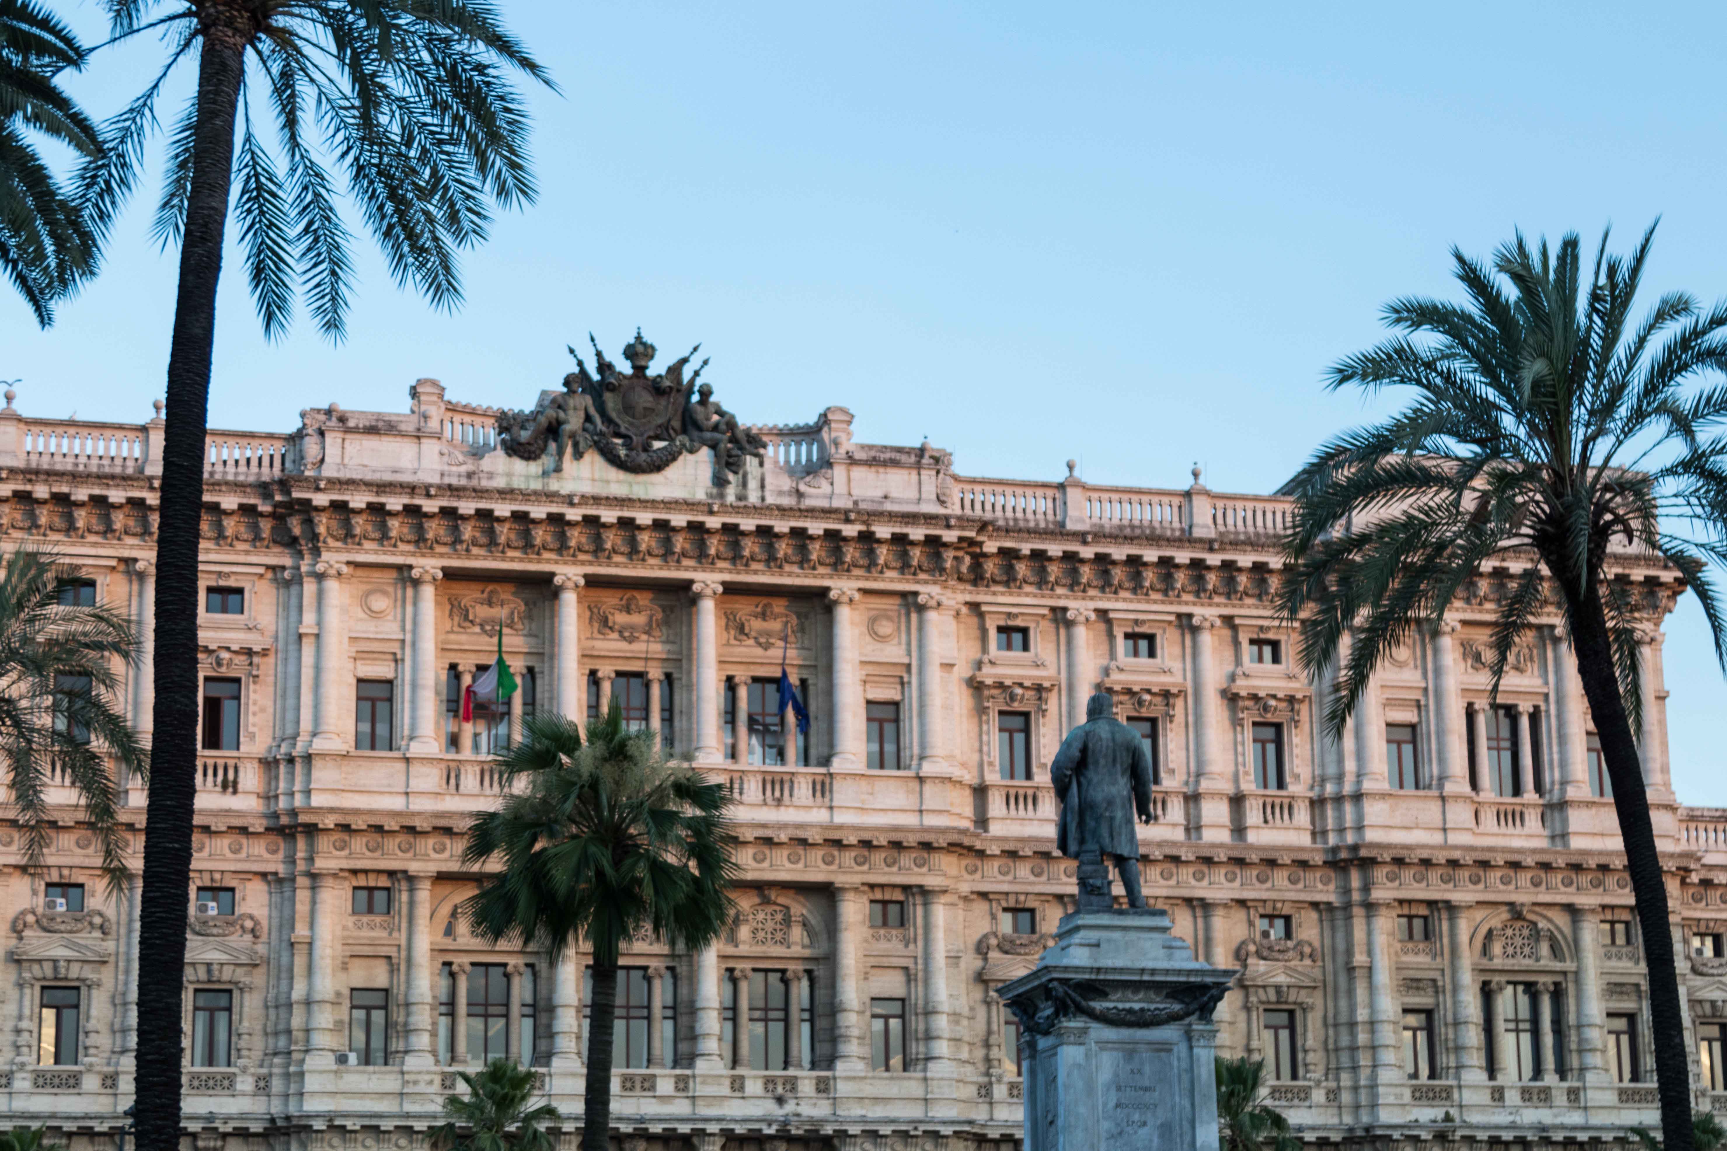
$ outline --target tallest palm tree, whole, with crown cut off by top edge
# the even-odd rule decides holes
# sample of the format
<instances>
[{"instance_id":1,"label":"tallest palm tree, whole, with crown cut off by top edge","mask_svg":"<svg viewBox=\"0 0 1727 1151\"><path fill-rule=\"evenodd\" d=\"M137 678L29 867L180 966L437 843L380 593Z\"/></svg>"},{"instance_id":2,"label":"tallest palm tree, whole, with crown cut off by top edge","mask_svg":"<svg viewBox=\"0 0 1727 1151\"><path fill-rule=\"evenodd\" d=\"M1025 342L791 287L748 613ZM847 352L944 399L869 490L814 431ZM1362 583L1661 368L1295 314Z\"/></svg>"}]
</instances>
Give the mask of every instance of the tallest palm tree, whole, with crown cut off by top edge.
<instances>
[{"instance_id":1,"label":"tallest palm tree, whole, with crown cut off by top edge","mask_svg":"<svg viewBox=\"0 0 1727 1151\"><path fill-rule=\"evenodd\" d=\"M490 205L530 202L528 117L511 72L547 81L487 0L102 0L116 40L155 31L168 60L102 129L79 173L100 235L136 183L155 104L197 86L168 140L161 242L180 243L155 578L155 716L138 946L138 1149L180 1146L180 965L197 771L199 521L230 200L254 304L280 335L304 293L332 338L354 280L347 186L397 283L461 300L458 250ZM166 9L159 12L159 9ZM340 174L332 173L335 166Z\"/></svg>"}]
</instances>

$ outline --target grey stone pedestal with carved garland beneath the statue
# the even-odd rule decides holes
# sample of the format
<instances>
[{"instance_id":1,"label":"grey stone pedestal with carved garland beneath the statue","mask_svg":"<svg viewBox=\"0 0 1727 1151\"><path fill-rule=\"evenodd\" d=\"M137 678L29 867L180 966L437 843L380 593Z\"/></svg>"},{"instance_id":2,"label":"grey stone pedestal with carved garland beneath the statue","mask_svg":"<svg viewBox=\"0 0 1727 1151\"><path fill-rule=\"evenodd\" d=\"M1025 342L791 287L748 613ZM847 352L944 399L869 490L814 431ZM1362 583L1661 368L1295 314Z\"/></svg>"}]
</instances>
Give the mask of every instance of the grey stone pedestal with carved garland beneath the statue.
<instances>
[{"instance_id":1,"label":"grey stone pedestal with carved garland beneath the statue","mask_svg":"<svg viewBox=\"0 0 1727 1151\"><path fill-rule=\"evenodd\" d=\"M1164 911L1078 911L1003 984L1021 1025L1024 1151L1218 1151L1212 1008L1233 970L1193 958Z\"/></svg>"}]
</instances>

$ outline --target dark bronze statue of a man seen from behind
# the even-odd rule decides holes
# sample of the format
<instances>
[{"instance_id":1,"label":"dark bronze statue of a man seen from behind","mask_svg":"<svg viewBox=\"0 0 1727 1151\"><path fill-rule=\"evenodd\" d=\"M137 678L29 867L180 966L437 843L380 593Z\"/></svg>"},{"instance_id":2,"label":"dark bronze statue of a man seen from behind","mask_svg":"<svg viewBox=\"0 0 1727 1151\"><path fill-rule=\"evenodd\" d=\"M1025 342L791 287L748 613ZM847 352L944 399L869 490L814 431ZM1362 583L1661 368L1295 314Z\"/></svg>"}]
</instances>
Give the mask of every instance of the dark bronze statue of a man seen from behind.
<instances>
[{"instance_id":1,"label":"dark bronze statue of a man seen from behind","mask_svg":"<svg viewBox=\"0 0 1727 1151\"><path fill-rule=\"evenodd\" d=\"M1152 821L1152 758L1138 732L1112 713L1107 692L1091 695L1085 723L1067 733L1050 764L1050 783L1062 804L1055 847L1079 861L1081 911L1110 906L1105 856L1116 858L1128 906L1145 906L1133 816L1138 813L1140 823Z\"/></svg>"}]
</instances>

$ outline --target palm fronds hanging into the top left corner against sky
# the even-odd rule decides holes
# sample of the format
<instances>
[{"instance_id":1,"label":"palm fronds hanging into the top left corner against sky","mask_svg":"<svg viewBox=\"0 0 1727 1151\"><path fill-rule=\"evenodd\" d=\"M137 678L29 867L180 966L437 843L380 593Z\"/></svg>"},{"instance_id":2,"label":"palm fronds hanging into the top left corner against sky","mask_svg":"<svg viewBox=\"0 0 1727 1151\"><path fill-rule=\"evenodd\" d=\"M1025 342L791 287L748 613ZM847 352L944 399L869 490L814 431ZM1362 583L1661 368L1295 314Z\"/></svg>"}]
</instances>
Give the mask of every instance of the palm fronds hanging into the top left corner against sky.
<instances>
[{"instance_id":1,"label":"palm fronds hanging into the top left corner against sky","mask_svg":"<svg viewBox=\"0 0 1727 1151\"><path fill-rule=\"evenodd\" d=\"M83 67L85 48L35 0L0 0L0 271L36 323L54 323L55 297L95 267L95 236L26 131L86 157L100 155L97 128L55 83Z\"/></svg>"}]
</instances>

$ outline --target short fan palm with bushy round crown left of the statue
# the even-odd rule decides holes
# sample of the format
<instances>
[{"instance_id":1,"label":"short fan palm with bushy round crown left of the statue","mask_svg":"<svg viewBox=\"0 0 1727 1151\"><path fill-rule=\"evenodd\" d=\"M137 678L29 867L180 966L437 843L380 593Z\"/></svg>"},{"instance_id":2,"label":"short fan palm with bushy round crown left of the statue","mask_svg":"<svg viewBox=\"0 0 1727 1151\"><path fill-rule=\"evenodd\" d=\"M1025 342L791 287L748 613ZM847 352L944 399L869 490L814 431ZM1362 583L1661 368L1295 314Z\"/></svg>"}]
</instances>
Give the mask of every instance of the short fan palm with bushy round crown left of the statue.
<instances>
[{"instance_id":1,"label":"short fan palm with bushy round crown left of the statue","mask_svg":"<svg viewBox=\"0 0 1727 1151\"><path fill-rule=\"evenodd\" d=\"M720 937L737 870L731 796L667 761L653 732L625 732L617 704L587 725L585 744L573 720L535 716L497 761L515 794L473 818L465 859L480 868L496 856L503 870L463 909L477 937L539 947L553 965L587 940L582 1151L606 1151L618 953L639 928L691 951Z\"/></svg>"}]
</instances>

